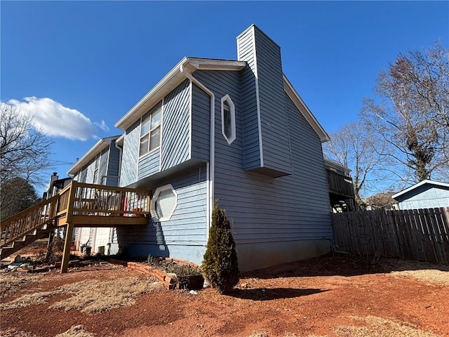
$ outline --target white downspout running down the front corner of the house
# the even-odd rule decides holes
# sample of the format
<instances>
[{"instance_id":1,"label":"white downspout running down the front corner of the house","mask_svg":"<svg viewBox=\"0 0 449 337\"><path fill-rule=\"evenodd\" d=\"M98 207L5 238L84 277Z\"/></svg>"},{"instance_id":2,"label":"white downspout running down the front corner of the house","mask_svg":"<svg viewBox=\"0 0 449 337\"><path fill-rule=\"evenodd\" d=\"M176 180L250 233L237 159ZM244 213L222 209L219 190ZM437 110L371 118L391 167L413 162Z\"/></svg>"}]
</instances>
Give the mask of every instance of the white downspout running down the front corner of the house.
<instances>
[{"instance_id":1,"label":"white downspout running down the front corner of the house","mask_svg":"<svg viewBox=\"0 0 449 337\"><path fill-rule=\"evenodd\" d=\"M215 95L206 86L204 86L200 81L192 76L189 70L186 70L183 65L180 65L180 72L187 79L196 84L202 91L210 96L210 149L209 149L209 165L208 165L208 202L207 202L207 213L208 217L206 219L208 231L206 233L206 238L209 237L210 220L212 219L212 210L214 204L214 174L215 174Z\"/></svg>"}]
</instances>

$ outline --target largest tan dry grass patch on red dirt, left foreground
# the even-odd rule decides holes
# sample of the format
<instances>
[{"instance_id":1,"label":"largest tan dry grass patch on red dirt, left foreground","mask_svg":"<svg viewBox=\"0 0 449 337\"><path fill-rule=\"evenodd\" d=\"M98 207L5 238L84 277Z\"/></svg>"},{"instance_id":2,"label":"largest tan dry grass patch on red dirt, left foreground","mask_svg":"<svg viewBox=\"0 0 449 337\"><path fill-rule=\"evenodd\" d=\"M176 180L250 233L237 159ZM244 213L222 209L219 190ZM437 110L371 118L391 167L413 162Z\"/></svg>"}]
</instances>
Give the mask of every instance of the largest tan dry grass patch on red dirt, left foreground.
<instances>
[{"instance_id":1,"label":"largest tan dry grass patch on red dirt, left foreground","mask_svg":"<svg viewBox=\"0 0 449 337\"><path fill-rule=\"evenodd\" d=\"M160 284L153 282L154 279L128 277L103 282L86 280L66 284L60 289L65 293L74 293L74 296L56 302L50 308L79 310L91 314L126 307L133 305L137 296L163 289Z\"/></svg>"}]
</instances>

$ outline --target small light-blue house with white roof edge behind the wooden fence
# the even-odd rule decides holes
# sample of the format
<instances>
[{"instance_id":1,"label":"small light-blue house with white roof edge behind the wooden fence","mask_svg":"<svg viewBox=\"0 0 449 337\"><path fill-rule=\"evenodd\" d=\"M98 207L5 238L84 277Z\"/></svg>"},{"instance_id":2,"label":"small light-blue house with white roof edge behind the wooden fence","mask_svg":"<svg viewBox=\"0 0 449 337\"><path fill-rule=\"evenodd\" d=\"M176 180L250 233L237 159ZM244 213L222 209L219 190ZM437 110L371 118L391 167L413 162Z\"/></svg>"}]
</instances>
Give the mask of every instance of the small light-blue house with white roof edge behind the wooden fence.
<instances>
[{"instance_id":1,"label":"small light-blue house with white roof edge behind the wooden fence","mask_svg":"<svg viewBox=\"0 0 449 337\"><path fill-rule=\"evenodd\" d=\"M422 180L391 197L398 201L399 209L449 207L449 184Z\"/></svg>"}]
</instances>

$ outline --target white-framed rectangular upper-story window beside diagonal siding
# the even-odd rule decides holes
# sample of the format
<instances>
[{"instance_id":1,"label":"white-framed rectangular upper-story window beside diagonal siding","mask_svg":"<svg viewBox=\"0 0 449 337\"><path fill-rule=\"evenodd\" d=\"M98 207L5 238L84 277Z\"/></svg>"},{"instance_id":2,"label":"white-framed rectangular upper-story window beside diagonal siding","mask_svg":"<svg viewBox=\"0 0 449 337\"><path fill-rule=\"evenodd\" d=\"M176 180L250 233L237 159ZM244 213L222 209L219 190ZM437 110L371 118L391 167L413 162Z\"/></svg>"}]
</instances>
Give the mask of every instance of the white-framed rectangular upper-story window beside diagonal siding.
<instances>
[{"instance_id":1,"label":"white-framed rectangular upper-story window beside diagonal siding","mask_svg":"<svg viewBox=\"0 0 449 337\"><path fill-rule=\"evenodd\" d=\"M158 103L140 120L140 156L161 145L161 117L162 104Z\"/></svg>"}]
</instances>

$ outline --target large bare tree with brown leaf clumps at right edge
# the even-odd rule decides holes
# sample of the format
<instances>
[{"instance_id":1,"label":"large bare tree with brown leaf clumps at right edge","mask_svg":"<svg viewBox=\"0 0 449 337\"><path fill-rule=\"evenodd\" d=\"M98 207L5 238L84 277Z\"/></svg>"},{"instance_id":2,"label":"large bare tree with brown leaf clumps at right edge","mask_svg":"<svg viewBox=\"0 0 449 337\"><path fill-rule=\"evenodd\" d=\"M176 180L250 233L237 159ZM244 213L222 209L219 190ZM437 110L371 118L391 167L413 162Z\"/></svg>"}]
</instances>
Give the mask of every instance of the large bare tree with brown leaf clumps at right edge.
<instances>
[{"instance_id":1,"label":"large bare tree with brown leaf clumps at right edge","mask_svg":"<svg viewBox=\"0 0 449 337\"><path fill-rule=\"evenodd\" d=\"M388 146L379 151L401 164L401 179L421 181L449 171L449 50L439 42L410 51L377 77L377 99L366 99L363 124Z\"/></svg>"}]
</instances>

